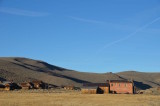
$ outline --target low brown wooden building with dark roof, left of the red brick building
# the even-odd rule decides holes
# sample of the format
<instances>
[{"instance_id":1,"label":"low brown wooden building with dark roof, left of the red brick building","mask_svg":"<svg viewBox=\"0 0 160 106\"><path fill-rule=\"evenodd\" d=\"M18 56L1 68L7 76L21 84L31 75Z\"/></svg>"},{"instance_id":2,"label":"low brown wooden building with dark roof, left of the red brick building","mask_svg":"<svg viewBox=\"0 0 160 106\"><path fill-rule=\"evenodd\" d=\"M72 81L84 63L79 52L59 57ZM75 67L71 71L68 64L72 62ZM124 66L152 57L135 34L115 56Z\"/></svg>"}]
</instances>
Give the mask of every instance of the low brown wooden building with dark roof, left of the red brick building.
<instances>
[{"instance_id":1,"label":"low brown wooden building with dark roof, left of the red brick building","mask_svg":"<svg viewBox=\"0 0 160 106\"><path fill-rule=\"evenodd\" d=\"M108 94L108 83L85 83L81 88L82 94Z\"/></svg>"}]
</instances>

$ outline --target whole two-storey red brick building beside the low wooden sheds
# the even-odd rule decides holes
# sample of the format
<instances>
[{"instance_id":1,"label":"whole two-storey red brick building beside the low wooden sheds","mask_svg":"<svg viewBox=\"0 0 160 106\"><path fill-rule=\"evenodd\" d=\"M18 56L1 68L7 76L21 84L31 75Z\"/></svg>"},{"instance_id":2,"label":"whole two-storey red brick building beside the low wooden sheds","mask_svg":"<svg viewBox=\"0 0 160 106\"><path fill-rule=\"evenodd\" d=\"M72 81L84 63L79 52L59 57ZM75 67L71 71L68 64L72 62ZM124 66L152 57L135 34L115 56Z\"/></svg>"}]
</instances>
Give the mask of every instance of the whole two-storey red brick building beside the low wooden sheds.
<instances>
[{"instance_id":1,"label":"whole two-storey red brick building beside the low wooden sheds","mask_svg":"<svg viewBox=\"0 0 160 106\"><path fill-rule=\"evenodd\" d=\"M110 93L116 94L133 94L134 83L128 80L110 80Z\"/></svg>"}]
</instances>

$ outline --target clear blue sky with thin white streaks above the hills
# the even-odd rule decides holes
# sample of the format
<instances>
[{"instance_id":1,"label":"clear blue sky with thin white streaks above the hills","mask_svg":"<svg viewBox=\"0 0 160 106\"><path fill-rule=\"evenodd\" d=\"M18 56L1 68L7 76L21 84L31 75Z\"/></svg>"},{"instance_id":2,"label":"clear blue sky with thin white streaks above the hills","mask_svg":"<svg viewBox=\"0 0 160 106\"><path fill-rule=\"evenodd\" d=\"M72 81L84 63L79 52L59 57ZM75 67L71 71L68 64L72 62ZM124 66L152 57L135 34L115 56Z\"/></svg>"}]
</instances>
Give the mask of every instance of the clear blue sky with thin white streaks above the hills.
<instances>
[{"instance_id":1,"label":"clear blue sky with thin white streaks above the hills","mask_svg":"<svg viewBox=\"0 0 160 106\"><path fill-rule=\"evenodd\" d=\"M160 72L159 0L0 0L0 57L81 72Z\"/></svg>"}]
</instances>

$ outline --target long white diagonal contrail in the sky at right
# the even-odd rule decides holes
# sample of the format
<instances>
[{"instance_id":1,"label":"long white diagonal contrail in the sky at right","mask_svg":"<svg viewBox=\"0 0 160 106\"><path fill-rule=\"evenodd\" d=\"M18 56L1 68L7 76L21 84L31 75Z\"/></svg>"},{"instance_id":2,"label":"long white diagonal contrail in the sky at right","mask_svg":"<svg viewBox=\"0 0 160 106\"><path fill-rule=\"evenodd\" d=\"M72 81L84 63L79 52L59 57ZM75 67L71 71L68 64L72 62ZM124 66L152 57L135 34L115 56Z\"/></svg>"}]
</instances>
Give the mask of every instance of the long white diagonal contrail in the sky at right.
<instances>
[{"instance_id":1,"label":"long white diagonal contrail in the sky at right","mask_svg":"<svg viewBox=\"0 0 160 106\"><path fill-rule=\"evenodd\" d=\"M157 22L157 21L159 21L159 20L160 20L160 17L158 17L158 18L154 19L153 21L145 24L144 26L140 27L140 28L137 29L136 31L134 31L134 32L132 32L131 34L127 35L126 37L123 37L123 38L121 38L121 39L119 39L119 40L116 40L116 41L113 41L113 42L111 42L111 43L108 43L108 44L104 45L100 50L98 50L98 52L97 52L96 54L102 52L104 49L106 49L106 48L108 48L108 47L110 47L110 46L112 46L112 45L114 45L114 44L117 44L117 43L119 43L119 42L122 42L122 41L125 41L125 40L131 38L132 36L134 36L134 35L137 34L138 32L142 31L142 30L145 29L146 27L152 25L153 23L155 23L155 22Z\"/></svg>"}]
</instances>

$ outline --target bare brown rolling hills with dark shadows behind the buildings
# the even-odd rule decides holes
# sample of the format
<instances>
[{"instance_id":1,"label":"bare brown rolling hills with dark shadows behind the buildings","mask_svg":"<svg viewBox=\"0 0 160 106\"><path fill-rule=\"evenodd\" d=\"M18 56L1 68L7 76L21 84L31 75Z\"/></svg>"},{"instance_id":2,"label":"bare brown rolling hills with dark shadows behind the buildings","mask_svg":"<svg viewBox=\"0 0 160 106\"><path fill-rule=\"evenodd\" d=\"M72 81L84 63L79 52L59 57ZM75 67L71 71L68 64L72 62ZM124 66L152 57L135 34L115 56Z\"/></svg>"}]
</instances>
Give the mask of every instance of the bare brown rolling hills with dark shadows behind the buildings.
<instances>
[{"instance_id":1,"label":"bare brown rolling hills with dark shadows behind the buildings","mask_svg":"<svg viewBox=\"0 0 160 106\"><path fill-rule=\"evenodd\" d=\"M43 61L20 57L0 58L0 80L13 80L16 83L42 80L57 86L82 83L102 83L106 80L133 79L140 89L160 86L160 73L126 71L120 73L86 73L69 70Z\"/></svg>"}]
</instances>

